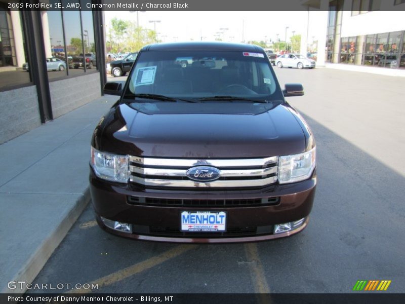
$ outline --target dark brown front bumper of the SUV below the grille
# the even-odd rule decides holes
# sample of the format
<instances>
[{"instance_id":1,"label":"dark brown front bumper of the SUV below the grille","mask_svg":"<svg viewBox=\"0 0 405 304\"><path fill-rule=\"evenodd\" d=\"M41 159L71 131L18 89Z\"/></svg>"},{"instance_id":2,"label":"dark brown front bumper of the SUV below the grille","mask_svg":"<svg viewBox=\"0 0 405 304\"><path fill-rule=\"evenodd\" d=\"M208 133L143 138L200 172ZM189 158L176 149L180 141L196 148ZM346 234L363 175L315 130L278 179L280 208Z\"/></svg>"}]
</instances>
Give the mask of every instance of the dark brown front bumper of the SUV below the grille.
<instances>
[{"instance_id":1,"label":"dark brown front bumper of the SUV below the grille","mask_svg":"<svg viewBox=\"0 0 405 304\"><path fill-rule=\"evenodd\" d=\"M131 185L112 183L97 178L90 170L90 192L97 222L110 233L138 239L180 243L234 243L262 241L287 237L302 231L308 223L315 196L316 173L308 180L291 184L273 184L260 189L213 190L195 189L142 189ZM132 200L135 198L135 200ZM141 203L134 203L141 198ZM232 201L245 202L269 199L263 205L232 206L170 206L176 202ZM145 203L159 202L159 204ZM161 204L161 202L170 202ZM227 232L191 233L180 231L182 211L225 211ZM129 223L131 233L121 232L105 225L108 219ZM274 226L303 219L295 229L274 234Z\"/></svg>"}]
</instances>

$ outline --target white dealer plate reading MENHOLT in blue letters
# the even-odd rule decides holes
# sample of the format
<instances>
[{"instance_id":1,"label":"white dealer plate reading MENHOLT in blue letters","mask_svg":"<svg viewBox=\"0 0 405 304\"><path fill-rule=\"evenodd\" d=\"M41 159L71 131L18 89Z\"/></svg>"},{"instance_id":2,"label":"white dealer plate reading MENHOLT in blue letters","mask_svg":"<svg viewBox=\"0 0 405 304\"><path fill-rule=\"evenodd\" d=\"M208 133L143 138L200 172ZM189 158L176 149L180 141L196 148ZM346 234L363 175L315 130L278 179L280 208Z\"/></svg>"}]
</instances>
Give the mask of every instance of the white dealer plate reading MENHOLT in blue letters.
<instances>
[{"instance_id":1,"label":"white dealer plate reading MENHOLT in blue letters","mask_svg":"<svg viewBox=\"0 0 405 304\"><path fill-rule=\"evenodd\" d=\"M224 211L182 211L180 230L183 232L225 232Z\"/></svg>"}]
</instances>

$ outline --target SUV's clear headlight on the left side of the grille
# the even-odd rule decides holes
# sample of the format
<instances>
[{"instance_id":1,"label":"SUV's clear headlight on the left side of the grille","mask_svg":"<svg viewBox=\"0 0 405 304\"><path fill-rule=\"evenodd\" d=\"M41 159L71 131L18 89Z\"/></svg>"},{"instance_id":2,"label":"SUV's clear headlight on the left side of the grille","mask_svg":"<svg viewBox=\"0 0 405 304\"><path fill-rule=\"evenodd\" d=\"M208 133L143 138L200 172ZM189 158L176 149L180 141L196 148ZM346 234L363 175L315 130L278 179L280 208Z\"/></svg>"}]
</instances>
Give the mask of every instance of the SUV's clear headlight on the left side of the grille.
<instances>
[{"instance_id":1,"label":"SUV's clear headlight on the left side of the grille","mask_svg":"<svg viewBox=\"0 0 405 304\"><path fill-rule=\"evenodd\" d=\"M116 182L128 182L129 167L127 155L100 152L91 147L90 165L100 178Z\"/></svg>"}]
</instances>

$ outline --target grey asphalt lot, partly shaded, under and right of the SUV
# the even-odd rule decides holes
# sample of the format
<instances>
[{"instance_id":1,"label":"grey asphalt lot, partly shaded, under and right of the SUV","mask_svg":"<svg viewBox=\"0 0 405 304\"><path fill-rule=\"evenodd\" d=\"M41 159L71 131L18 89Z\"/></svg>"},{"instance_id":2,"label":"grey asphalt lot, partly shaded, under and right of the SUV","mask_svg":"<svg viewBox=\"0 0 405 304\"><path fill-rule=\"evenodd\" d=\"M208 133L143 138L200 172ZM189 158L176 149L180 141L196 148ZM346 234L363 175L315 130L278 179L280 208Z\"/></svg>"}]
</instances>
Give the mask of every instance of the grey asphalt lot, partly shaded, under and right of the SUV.
<instances>
[{"instance_id":1,"label":"grey asphalt lot, partly shaded, under and right of the SUV","mask_svg":"<svg viewBox=\"0 0 405 304\"><path fill-rule=\"evenodd\" d=\"M289 100L317 143L303 232L249 244L133 241L101 230L89 205L34 283L94 283L87 291L108 293L347 293L357 280L391 280L386 292L404 292L404 79L275 71L282 86L303 83L305 96Z\"/></svg>"}]
</instances>

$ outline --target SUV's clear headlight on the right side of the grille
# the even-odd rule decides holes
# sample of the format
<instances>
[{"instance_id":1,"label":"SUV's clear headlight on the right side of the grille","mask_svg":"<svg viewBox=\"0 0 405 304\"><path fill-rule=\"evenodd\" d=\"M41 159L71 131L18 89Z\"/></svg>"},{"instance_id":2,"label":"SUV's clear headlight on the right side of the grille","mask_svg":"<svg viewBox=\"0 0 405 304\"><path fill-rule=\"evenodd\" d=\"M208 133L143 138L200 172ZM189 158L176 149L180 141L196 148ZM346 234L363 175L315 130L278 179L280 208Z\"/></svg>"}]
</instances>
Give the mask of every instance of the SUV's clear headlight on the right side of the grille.
<instances>
[{"instance_id":1,"label":"SUV's clear headlight on the right side of the grille","mask_svg":"<svg viewBox=\"0 0 405 304\"><path fill-rule=\"evenodd\" d=\"M280 156L278 158L278 182L289 183L305 180L315 168L315 147L304 153Z\"/></svg>"}]
</instances>

